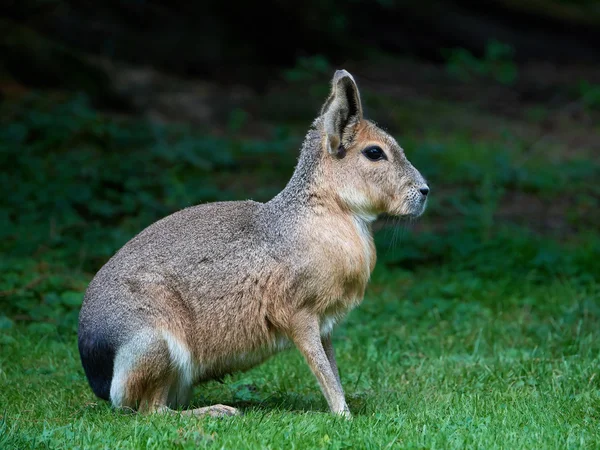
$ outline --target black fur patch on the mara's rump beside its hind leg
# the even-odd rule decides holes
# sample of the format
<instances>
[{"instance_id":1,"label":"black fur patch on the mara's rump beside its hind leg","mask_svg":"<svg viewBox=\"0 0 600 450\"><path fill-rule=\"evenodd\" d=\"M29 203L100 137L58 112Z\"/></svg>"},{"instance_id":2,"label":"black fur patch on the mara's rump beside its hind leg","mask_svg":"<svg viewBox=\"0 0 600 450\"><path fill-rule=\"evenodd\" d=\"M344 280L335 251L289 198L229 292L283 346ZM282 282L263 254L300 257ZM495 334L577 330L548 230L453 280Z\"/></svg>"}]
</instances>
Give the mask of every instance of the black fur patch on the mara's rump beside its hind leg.
<instances>
[{"instance_id":1,"label":"black fur patch on the mara's rump beside its hind leg","mask_svg":"<svg viewBox=\"0 0 600 450\"><path fill-rule=\"evenodd\" d=\"M103 336L79 332L79 356L94 394L109 400L116 349Z\"/></svg>"}]
</instances>

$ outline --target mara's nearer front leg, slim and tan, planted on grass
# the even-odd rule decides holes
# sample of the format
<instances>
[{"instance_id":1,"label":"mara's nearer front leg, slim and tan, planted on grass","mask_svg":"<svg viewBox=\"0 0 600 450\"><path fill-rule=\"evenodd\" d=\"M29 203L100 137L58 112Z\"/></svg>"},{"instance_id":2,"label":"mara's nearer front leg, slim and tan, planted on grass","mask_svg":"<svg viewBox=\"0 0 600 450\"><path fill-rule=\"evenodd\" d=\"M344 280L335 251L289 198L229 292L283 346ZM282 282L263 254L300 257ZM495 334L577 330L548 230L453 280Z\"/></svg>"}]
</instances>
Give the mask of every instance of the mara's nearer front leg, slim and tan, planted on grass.
<instances>
[{"instance_id":1,"label":"mara's nearer front leg, slim and tan, planted on grass","mask_svg":"<svg viewBox=\"0 0 600 450\"><path fill-rule=\"evenodd\" d=\"M335 359L330 362L321 341L319 318L308 312L298 312L292 319L290 339L298 347L310 369L317 377L331 412L350 417L350 410L346 404L344 391L337 374ZM333 353L331 355L333 356ZM334 367L336 370L334 370Z\"/></svg>"}]
</instances>

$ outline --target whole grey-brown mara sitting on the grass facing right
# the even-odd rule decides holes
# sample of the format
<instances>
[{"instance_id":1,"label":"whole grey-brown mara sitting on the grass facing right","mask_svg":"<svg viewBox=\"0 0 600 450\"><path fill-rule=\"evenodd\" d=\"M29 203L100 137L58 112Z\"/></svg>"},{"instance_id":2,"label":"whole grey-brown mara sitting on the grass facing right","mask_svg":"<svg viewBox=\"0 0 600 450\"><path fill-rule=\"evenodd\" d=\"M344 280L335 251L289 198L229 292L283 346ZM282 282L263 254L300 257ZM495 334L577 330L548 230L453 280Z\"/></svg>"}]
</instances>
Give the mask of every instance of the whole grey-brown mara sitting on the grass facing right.
<instances>
[{"instance_id":1,"label":"whole grey-brown mara sitting on the grass facing right","mask_svg":"<svg viewBox=\"0 0 600 450\"><path fill-rule=\"evenodd\" d=\"M385 158L367 158L374 145ZM79 330L92 388L107 398L110 383L115 406L170 411L189 402L194 383L251 368L293 343L331 410L349 415L331 330L360 303L375 267L371 222L384 212L418 216L424 188L396 141L363 119L352 76L336 72L278 196L180 211L98 272ZM110 379L102 370L109 363ZM234 412L216 405L191 413Z\"/></svg>"}]
</instances>

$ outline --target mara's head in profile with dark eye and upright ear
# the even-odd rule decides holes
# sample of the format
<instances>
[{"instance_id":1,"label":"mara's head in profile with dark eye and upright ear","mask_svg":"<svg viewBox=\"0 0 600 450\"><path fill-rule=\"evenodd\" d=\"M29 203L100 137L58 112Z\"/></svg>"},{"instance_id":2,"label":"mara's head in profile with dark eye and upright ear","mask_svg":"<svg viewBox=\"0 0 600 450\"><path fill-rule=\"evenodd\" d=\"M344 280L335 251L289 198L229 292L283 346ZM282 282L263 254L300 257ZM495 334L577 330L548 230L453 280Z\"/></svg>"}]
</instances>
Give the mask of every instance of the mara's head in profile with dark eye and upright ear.
<instances>
[{"instance_id":1,"label":"mara's head in profile with dark eye and upright ear","mask_svg":"<svg viewBox=\"0 0 600 450\"><path fill-rule=\"evenodd\" d=\"M323 175L345 208L369 219L423 213L425 179L392 136L363 118L358 87L345 70L336 71L315 126Z\"/></svg>"}]
</instances>

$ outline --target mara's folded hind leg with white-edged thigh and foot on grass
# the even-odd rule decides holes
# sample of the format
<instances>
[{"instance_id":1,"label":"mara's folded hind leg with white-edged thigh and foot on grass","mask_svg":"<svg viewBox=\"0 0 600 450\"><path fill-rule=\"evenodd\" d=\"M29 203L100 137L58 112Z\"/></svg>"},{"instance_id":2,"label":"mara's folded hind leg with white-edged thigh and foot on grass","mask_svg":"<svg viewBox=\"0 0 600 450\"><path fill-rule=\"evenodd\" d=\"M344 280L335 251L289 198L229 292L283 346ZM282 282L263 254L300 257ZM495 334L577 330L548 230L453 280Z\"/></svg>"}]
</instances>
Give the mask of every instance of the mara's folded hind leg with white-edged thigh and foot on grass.
<instances>
[{"instance_id":1,"label":"mara's folded hind leg with white-edged thigh and foot on grass","mask_svg":"<svg viewBox=\"0 0 600 450\"><path fill-rule=\"evenodd\" d=\"M194 364L188 348L168 332L144 331L123 345L115 358L110 399L117 408L141 413L179 413L191 399ZM186 415L231 416L225 405L182 411Z\"/></svg>"}]
</instances>

